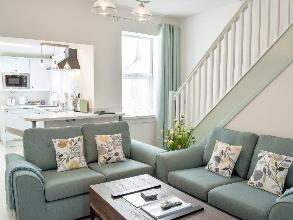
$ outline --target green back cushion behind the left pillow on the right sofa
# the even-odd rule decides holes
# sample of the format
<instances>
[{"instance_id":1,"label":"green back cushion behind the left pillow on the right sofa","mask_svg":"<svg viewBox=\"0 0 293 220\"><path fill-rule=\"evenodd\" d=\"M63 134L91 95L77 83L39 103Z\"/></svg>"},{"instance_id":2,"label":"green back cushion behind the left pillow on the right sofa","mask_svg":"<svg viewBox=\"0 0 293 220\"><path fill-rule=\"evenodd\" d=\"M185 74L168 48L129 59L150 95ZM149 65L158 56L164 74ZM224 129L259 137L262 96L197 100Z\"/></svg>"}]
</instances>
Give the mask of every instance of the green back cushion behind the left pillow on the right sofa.
<instances>
[{"instance_id":1,"label":"green back cushion behind the left pillow on the right sofa","mask_svg":"<svg viewBox=\"0 0 293 220\"><path fill-rule=\"evenodd\" d=\"M214 127L209 135L207 144L205 145L202 164L206 166L207 163L209 163L216 141L242 146L233 173L241 178L246 178L257 140L258 135L255 133L232 131L226 128Z\"/></svg>"}]
</instances>

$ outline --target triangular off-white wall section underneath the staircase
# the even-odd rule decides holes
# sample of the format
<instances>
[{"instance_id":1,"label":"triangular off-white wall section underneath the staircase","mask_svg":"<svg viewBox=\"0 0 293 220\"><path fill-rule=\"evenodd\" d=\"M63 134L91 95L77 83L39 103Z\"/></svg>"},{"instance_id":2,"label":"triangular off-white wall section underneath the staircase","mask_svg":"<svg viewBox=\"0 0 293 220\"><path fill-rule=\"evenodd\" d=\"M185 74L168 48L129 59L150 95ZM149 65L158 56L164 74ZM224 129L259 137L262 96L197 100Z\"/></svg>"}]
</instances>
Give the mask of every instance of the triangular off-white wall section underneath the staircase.
<instances>
[{"instance_id":1,"label":"triangular off-white wall section underneath the staircase","mask_svg":"<svg viewBox=\"0 0 293 220\"><path fill-rule=\"evenodd\" d=\"M225 128L293 138L293 63L258 94Z\"/></svg>"}]
</instances>

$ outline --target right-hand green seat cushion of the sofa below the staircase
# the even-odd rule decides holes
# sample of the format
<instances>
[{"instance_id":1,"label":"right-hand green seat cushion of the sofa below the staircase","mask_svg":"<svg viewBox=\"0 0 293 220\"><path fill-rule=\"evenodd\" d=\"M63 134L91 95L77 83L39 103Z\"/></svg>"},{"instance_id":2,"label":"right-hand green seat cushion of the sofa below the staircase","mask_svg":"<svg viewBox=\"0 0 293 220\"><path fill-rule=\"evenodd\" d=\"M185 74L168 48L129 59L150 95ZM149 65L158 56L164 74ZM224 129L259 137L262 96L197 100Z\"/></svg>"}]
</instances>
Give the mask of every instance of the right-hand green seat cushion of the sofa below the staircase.
<instances>
[{"instance_id":1,"label":"right-hand green seat cushion of the sofa below the staircase","mask_svg":"<svg viewBox=\"0 0 293 220\"><path fill-rule=\"evenodd\" d=\"M209 191L208 202L246 220L266 220L277 195L246 184L247 180Z\"/></svg>"}]
</instances>

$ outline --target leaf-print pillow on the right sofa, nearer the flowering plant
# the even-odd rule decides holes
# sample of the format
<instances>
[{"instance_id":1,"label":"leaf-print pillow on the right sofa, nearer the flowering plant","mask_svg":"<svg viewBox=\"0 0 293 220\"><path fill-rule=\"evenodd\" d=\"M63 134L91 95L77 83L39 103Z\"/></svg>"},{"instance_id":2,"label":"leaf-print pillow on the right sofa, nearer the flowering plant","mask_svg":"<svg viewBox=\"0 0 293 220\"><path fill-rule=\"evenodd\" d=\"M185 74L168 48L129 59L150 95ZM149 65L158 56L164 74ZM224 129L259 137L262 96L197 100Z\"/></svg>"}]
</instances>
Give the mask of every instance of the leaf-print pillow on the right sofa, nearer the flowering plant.
<instances>
[{"instance_id":1,"label":"leaf-print pillow on the right sofa, nearer the flowering plant","mask_svg":"<svg viewBox=\"0 0 293 220\"><path fill-rule=\"evenodd\" d=\"M205 169L230 179L241 148L216 141L212 158Z\"/></svg>"}]
</instances>

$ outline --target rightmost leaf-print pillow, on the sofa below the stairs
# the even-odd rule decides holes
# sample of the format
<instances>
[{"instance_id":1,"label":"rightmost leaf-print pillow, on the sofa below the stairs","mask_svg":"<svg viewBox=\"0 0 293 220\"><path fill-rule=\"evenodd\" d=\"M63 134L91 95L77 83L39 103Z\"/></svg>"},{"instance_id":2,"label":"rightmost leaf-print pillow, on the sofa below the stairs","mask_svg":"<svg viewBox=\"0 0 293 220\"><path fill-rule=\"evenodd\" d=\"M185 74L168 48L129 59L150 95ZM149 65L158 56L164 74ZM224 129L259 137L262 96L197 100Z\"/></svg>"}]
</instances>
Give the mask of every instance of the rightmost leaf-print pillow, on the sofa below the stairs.
<instances>
[{"instance_id":1,"label":"rightmost leaf-print pillow, on the sofa below the stairs","mask_svg":"<svg viewBox=\"0 0 293 220\"><path fill-rule=\"evenodd\" d=\"M258 150L258 162L247 185L280 196L292 160L292 157Z\"/></svg>"}]
</instances>

